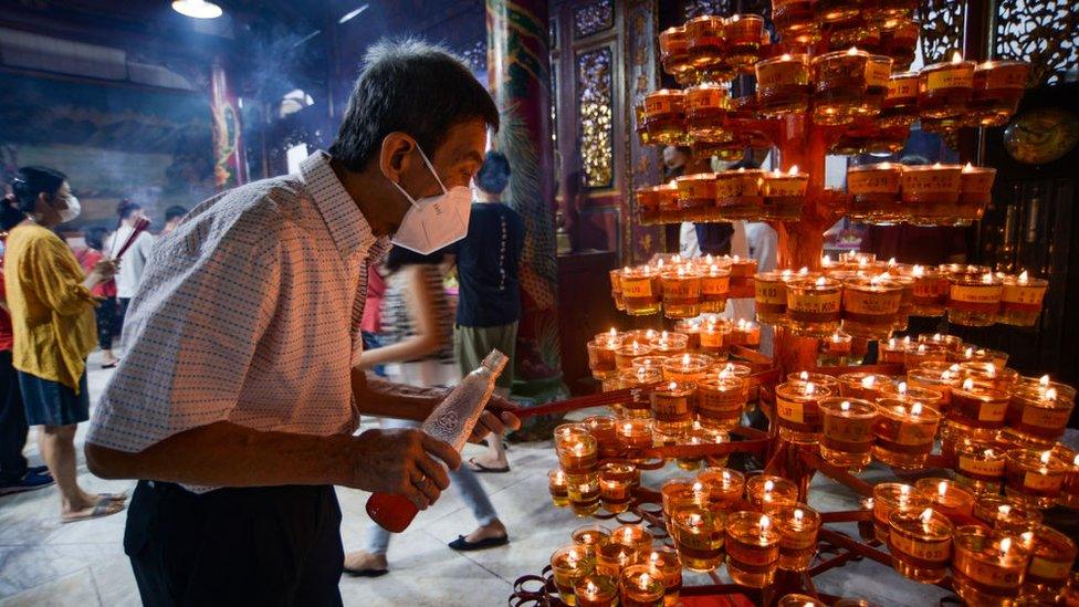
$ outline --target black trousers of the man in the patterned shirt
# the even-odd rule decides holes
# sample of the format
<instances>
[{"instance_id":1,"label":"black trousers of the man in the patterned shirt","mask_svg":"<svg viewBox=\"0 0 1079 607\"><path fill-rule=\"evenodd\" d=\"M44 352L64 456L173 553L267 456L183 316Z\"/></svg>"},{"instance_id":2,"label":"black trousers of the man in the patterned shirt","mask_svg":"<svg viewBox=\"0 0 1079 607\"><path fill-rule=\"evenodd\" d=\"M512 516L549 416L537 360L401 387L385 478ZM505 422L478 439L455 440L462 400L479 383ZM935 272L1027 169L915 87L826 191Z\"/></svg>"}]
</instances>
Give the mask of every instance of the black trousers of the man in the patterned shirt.
<instances>
[{"instance_id":1,"label":"black trousers of the man in the patterned shirt","mask_svg":"<svg viewBox=\"0 0 1079 607\"><path fill-rule=\"evenodd\" d=\"M333 486L191 493L139 481L124 552L143 605L341 605Z\"/></svg>"}]
</instances>

